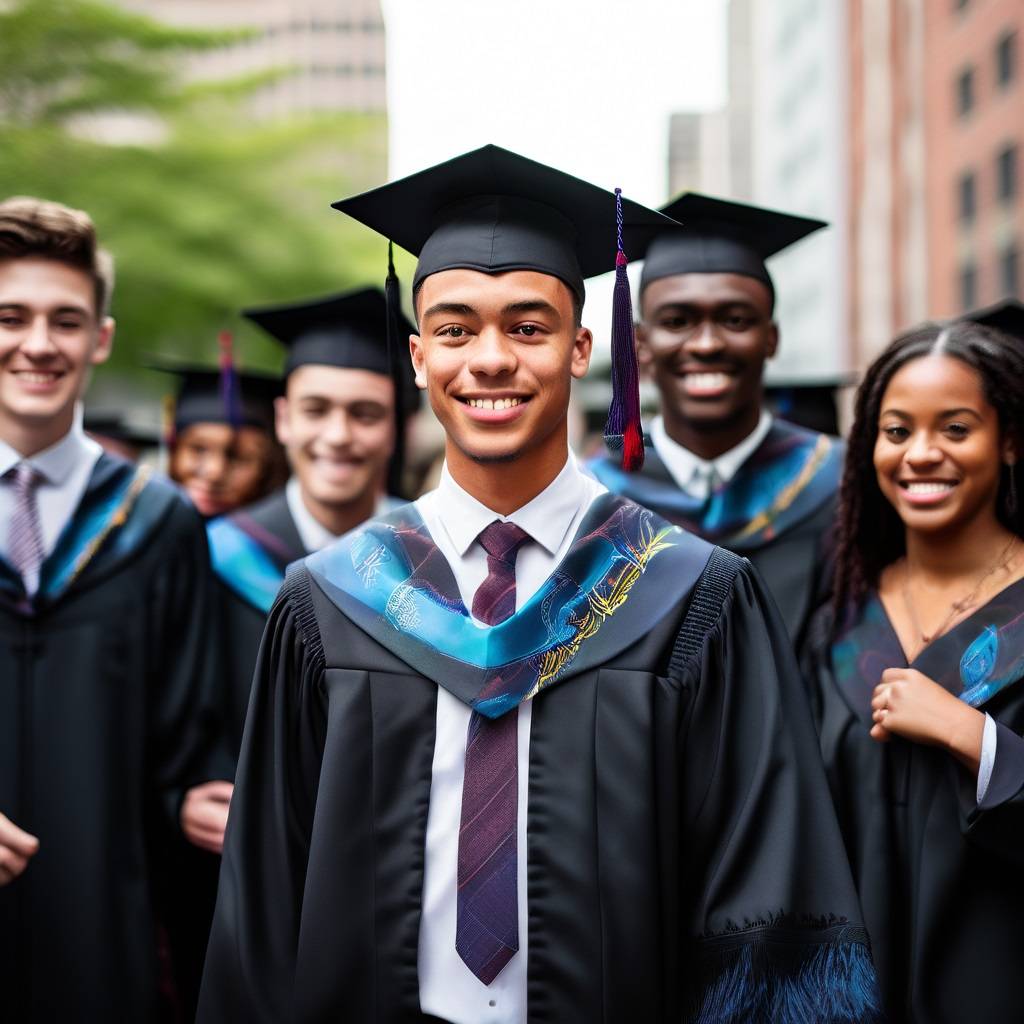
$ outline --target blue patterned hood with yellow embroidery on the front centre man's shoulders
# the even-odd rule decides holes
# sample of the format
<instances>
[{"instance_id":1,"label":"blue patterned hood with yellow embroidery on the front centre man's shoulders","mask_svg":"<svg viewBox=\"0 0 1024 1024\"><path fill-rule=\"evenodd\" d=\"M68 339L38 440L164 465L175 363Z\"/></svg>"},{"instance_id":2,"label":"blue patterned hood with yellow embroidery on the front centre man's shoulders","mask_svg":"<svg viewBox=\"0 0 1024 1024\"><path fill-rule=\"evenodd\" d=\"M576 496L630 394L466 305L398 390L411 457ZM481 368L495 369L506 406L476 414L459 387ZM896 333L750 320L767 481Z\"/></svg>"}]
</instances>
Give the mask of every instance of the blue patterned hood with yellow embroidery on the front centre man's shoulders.
<instances>
[{"instance_id":1,"label":"blue patterned hood with yellow embroidery on the front centre man's shoulders","mask_svg":"<svg viewBox=\"0 0 1024 1024\"><path fill-rule=\"evenodd\" d=\"M328 598L418 673L497 718L636 642L696 582L708 544L612 495L588 511L565 558L504 623L477 626L410 505L306 565ZM614 628L605 624L614 617Z\"/></svg>"}]
</instances>

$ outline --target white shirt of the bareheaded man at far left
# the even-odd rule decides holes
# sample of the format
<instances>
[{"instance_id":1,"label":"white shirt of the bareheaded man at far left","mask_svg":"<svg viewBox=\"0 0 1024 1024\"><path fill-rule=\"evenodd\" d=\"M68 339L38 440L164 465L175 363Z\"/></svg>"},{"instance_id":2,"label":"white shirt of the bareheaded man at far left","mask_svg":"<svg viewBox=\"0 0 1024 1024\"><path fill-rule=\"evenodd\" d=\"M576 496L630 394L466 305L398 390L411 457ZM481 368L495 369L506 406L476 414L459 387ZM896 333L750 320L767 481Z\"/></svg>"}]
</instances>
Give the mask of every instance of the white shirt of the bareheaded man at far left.
<instances>
[{"instance_id":1,"label":"white shirt of the bareheaded man at far left","mask_svg":"<svg viewBox=\"0 0 1024 1024\"><path fill-rule=\"evenodd\" d=\"M78 508L96 460L102 454L103 450L82 430L80 411L75 415L71 430L60 440L28 459L23 459L19 452L0 440L0 523L3 524L0 529L3 548L0 550L5 557L10 550L7 534L14 514L14 488L12 481L3 479L4 474L19 462L27 462L42 476L36 486L36 504L45 558L53 552ZM38 580L27 580L26 589L34 594L38 584Z\"/></svg>"}]
</instances>

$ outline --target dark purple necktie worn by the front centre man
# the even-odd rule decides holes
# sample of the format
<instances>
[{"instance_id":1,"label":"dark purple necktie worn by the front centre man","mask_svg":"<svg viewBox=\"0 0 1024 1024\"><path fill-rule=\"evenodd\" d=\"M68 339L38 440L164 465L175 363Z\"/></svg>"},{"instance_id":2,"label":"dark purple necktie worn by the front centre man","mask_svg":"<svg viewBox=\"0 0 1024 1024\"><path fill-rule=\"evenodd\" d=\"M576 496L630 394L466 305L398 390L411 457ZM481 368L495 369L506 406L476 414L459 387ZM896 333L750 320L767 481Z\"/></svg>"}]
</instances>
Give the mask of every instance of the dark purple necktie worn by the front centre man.
<instances>
[{"instance_id":1,"label":"dark purple necktie worn by the front centre man","mask_svg":"<svg viewBox=\"0 0 1024 1024\"><path fill-rule=\"evenodd\" d=\"M473 596L473 615L497 626L515 611L515 559L529 535L493 522L477 540L487 577ZM519 948L516 881L517 709L499 719L472 713L459 825L459 897L455 947L484 985Z\"/></svg>"}]
</instances>

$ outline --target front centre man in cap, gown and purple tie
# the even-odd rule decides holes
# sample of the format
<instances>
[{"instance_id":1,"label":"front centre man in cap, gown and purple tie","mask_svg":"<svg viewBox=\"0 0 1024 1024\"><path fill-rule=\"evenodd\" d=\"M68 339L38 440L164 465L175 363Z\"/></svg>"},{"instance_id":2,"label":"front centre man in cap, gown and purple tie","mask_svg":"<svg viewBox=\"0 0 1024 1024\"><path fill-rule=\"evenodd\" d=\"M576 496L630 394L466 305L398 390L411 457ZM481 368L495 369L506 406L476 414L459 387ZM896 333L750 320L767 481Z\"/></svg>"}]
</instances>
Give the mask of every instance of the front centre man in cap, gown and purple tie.
<instances>
[{"instance_id":1,"label":"front centre man in cap, gown and purple tie","mask_svg":"<svg viewBox=\"0 0 1024 1024\"><path fill-rule=\"evenodd\" d=\"M871 1019L770 602L568 450L584 278L617 262L642 456L616 197L484 146L337 206L419 255L446 466L270 612L200 1020ZM665 225L618 212L627 246Z\"/></svg>"}]
</instances>

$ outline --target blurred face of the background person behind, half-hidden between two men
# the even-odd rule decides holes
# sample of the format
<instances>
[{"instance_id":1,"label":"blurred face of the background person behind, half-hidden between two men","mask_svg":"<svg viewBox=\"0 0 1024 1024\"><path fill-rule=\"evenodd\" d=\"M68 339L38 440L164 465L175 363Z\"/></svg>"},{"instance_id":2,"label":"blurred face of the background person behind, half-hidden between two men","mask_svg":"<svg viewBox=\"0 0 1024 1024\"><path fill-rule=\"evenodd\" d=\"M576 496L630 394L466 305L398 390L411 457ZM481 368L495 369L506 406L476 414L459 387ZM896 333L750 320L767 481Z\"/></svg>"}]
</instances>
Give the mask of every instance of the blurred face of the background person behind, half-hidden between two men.
<instances>
[{"instance_id":1,"label":"blurred face of the background person behind, half-hidden between two men","mask_svg":"<svg viewBox=\"0 0 1024 1024\"><path fill-rule=\"evenodd\" d=\"M262 497L272 459L270 438L259 427L194 423L174 441L170 475L200 515L224 515Z\"/></svg>"}]
</instances>

